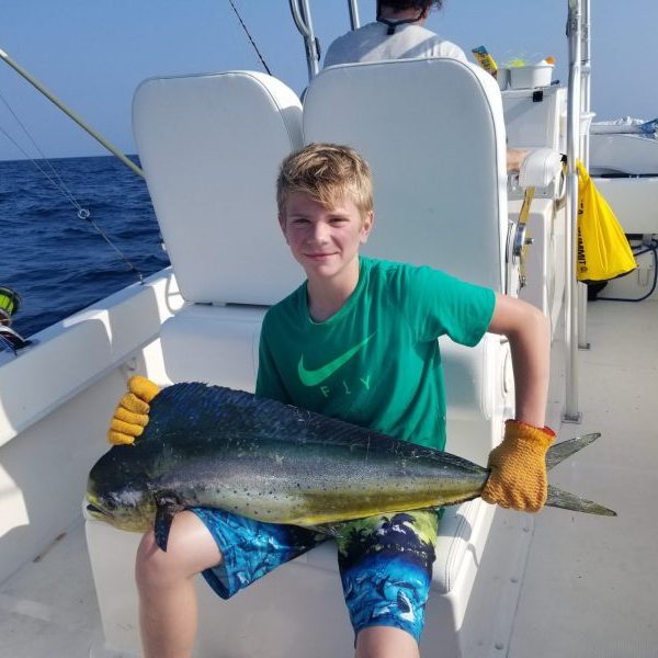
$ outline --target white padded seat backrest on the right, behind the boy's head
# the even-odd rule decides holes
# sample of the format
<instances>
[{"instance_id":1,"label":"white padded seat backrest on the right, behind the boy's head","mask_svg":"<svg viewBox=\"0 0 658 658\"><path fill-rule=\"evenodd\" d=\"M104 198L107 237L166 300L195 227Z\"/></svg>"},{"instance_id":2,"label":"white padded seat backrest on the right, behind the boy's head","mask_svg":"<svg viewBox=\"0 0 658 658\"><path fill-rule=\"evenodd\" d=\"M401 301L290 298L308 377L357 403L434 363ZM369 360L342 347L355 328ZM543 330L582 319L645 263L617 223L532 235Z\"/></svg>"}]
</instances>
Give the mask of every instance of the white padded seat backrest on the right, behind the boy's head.
<instances>
[{"instance_id":1,"label":"white padded seat backrest on the right, behind the boy's head","mask_svg":"<svg viewBox=\"0 0 658 658\"><path fill-rule=\"evenodd\" d=\"M504 288L504 125L491 76L449 58L329 67L308 87L304 140L350 145L371 164L365 253Z\"/></svg>"}]
</instances>

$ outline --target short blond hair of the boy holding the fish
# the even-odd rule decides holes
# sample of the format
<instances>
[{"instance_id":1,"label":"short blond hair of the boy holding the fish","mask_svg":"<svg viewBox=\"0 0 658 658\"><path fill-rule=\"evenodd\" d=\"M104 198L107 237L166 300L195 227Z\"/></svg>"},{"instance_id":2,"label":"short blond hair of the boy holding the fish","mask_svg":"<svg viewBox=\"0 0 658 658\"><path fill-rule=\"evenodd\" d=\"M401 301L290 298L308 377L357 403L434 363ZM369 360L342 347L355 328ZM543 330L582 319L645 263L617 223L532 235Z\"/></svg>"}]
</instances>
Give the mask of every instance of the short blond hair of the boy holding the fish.
<instances>
[{"instance_id":1,"label":"short blond hair of the boy holding the fish","mask_svg":"<svg viewBox=\"0 0 658 658\"><path fill-rule=\"evenodd\" d=\"M373 209L373 179L367 162L349 146L309 144L281 163L276 179L279 213L291 194L308 194L326 208L349 198L362 217Z\"/></svg>"}]
</instances>

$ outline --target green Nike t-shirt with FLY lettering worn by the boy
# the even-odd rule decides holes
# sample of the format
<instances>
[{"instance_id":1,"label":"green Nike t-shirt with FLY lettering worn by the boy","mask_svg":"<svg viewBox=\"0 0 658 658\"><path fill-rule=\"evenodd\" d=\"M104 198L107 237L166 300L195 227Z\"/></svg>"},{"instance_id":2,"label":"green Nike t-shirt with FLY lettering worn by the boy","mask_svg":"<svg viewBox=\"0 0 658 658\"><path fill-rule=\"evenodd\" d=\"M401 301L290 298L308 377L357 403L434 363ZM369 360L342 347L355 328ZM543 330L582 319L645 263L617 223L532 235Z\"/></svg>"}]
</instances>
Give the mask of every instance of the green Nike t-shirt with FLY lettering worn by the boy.
<instances>
[{"instance_id":1,"label":"green Nike t-shirt with FLY lettering worn by the boy","mask_svg":"<svg viewBox=\"0 0 658 658\"><path fill-rule=\"evenodd\" d=\"M256 393L443 450L436 339L477 344L494 306L489 288L361 257L354 292L324 322L309 316L306 283L268 311Z\"/></svg>"}]
</instances>

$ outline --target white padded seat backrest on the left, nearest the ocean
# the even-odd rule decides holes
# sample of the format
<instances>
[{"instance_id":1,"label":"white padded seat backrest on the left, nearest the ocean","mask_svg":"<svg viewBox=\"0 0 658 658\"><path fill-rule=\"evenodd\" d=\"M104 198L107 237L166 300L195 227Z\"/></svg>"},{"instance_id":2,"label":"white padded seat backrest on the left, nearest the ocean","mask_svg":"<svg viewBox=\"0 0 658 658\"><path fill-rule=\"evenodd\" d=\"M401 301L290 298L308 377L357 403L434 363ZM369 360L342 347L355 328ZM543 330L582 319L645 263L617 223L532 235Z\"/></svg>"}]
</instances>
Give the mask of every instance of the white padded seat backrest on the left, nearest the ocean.
<instances>
[{"instance_id":1,"label":"white padded seat backrest on the left, nearest the ocean","mask_svg":"<svg viewBox=\"0 0 658 658\"><path fill-rule=\"evenodd\" d=\"M302 281L275 180L302 145L302 105L259 72L152 78L133 101L139 159L188 302L273 304Z\"/></svg>"}]
</instances>

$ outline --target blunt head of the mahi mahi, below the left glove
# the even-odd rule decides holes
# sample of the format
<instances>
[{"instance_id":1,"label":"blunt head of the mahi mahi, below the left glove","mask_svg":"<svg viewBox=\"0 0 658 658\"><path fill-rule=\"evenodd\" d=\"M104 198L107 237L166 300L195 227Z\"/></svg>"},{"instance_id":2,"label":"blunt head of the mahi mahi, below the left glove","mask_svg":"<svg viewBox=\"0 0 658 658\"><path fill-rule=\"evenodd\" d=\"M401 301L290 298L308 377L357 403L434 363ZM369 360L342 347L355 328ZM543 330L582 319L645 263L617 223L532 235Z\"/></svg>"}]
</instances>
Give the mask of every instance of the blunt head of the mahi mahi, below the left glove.
<instances>
[{"instance_id":1,"label":"blunt head of the mahi mahi, below the left glove","mask_svg":"<svg viewBox=\"0 0 658 658\"><path fill-rule=\"evenodd\" d=\"M131 447L114 446L95 463L87 484L87 513L121 530L146 532L154 525L156 503L144 463L126 453Z\"/></svg>"}]
</instances>

